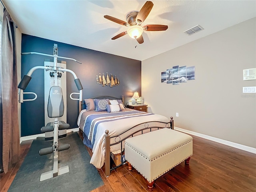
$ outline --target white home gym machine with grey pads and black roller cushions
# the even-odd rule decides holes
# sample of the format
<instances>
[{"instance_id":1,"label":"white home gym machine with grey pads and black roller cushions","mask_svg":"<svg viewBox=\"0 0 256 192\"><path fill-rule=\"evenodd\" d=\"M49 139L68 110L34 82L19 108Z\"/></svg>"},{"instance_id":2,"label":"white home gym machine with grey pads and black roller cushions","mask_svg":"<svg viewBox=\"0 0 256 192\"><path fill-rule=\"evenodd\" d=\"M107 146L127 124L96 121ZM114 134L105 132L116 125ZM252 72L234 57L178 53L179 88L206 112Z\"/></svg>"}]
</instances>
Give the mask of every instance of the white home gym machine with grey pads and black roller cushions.
<instances>
[{"instance_id":1,"label":"white home gym machine with grey pads and black roller cushions","mask_svg":"<svg viewBox=\"0 0 256 192\"><path fill-rule=\"evenodd\" d=\"M35 66L31 68L28 72L27 75L24 75L22 80L20 81L20 84L18 85L19 88L19 102L23 103L25 101L34 101L37 98L36 93L34 92L24 92L26 89L28 83L31 80L31 75L32 73L37 70L37 69L44 69L46 71L50 72L50 75L54 75L54 86L50 88L49 92L49 97L48 97L48 105L47 105L47 111L48 111L48 117L49 118L54 118L54 122L48 123L46 126L41 128L41 132L52 132L54 133L53 135L53 145L52 147L48 148L43 148L39 151L40 155L46 155L46 154L51 154L52 152L54 153L54 162L53 162L53 170L43 173L40 176L40 181L56 177L58 175L64 174L69 172L69 167L64 166L62 168L58 168L58 151L63 151L69 149L70 145L69 144L64 144L62 146L58 145L58 132L59 130L65 130L69 128L69 124L66 124L63 121L59 121L58 118L63 116L64 114L64 102L63 102L63 95L62 95L62 88L58 86L58 79L60 78L60 74L64 72L69 72L74 76L74 81L76 84L76 87L79 90L79 93L71 93L70 98L72 100L79 100L82 101L82 84L80 80L77 78L76 74L69 69L62 68L57 66L57 58L62 58L62 59L68 59L68 60L74 60L80 64L81 62L72 59L72 58L66 58L66 57L60 57L58 56L58 45L54 44L53 47L53 55L48 55L48 54L43 54L43 53L38 53L38 52L25 52L22 53L22 55L28 55L28 54L38 54L38 55L43 55L43 56L50 56L54 58L54 66ZM24 94L33 94L34 98L32 99L24 99L23 95ZM73 98L73 94L79 94L79 98Z\"/></svg>"}]
</instances>

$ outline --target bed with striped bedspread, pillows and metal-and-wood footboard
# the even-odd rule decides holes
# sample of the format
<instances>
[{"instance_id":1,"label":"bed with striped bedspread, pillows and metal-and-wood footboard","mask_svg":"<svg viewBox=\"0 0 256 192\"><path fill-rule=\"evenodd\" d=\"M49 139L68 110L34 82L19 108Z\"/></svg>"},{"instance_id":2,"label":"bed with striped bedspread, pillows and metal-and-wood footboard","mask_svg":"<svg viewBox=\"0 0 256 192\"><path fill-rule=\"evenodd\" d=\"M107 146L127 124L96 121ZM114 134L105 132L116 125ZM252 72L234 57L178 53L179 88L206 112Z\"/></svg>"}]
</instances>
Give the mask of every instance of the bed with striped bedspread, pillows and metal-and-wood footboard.
<instances>
[{"instance_id":1,"label":"bed with striped bedspread, pillows and metal-and-wood footboard","mask_svg":"<svg viewBox=\"0 0 256 192\"><path fill-rule=\"evenodd\" d=\"M101 168L105 163L106 176L126 162L122 160L119 166L110 168L110 152L122 155L126 138L160 128L174 128L172 117L168 119L162 115L129 109L123 103L123 96L97 96L81 103L77 124L83 134L83 143L92 149L91 164ZM85 105L86 109L83 109Z\"/></svg>"}]
</instances>

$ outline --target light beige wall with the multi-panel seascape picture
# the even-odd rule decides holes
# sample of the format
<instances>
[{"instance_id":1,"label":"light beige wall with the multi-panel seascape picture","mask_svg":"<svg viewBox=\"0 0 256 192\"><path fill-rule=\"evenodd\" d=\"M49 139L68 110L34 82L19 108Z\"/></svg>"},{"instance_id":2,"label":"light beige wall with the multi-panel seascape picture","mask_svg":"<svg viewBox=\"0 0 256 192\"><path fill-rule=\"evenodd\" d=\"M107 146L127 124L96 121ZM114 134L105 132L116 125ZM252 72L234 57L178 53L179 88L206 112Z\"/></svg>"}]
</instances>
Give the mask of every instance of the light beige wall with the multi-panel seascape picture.
<instances>
[{"instance_id":1,"label":"light beige wall with the multi-panel seascape picture","mask_svg":"<svg viewBox=\"0 0 256 192\"><path fill-rule=\"evenodd\" d=\"M196 66L196 80L161 83L176 65ZM256 86L243 81L248 68L256 68L256 18L143 60L142 96L149 112L173 116L176 127L256 148L256 94L242 93Z\"/></svg>"}]
</instances>

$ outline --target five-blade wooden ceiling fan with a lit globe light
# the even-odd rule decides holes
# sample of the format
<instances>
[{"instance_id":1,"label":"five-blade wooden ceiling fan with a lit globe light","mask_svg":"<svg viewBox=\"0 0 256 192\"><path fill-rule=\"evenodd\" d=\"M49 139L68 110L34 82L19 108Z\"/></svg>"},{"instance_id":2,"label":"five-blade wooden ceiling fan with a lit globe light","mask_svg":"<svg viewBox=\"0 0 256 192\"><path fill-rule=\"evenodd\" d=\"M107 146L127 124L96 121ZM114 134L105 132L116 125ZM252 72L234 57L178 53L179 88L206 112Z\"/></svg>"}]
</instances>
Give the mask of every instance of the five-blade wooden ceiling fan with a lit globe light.
<instances>
[{"instance_id":1,"label":"five-blade wooden ceiling fan with a lit globe light","mask_svg":"<svg viewBox=\"0 0 256 192\"><path fill-rule=\"evenodd\" d=\"M167 25L151 24L151 25L144 25L143 27L140 26L142 24L142 22L144 22L144 20L147 18L148 14L150 13L151 9L153 8L153 5L154 4L151 1L147 1L142 6L140 11L129 12L126 15L127 22L122 21L118 18L114 18L109 15L104 15L104 18L128 27L127 31L124 31L124 32L114 36L112 38L112 40L115 40L117 38L120 38L120 37L128 34L131 38L136 39L139 44L142 44L144 42L143 37L142 37L143 31L165 31L166 29L168 29Z\"/></svg>"}]
</instances>

